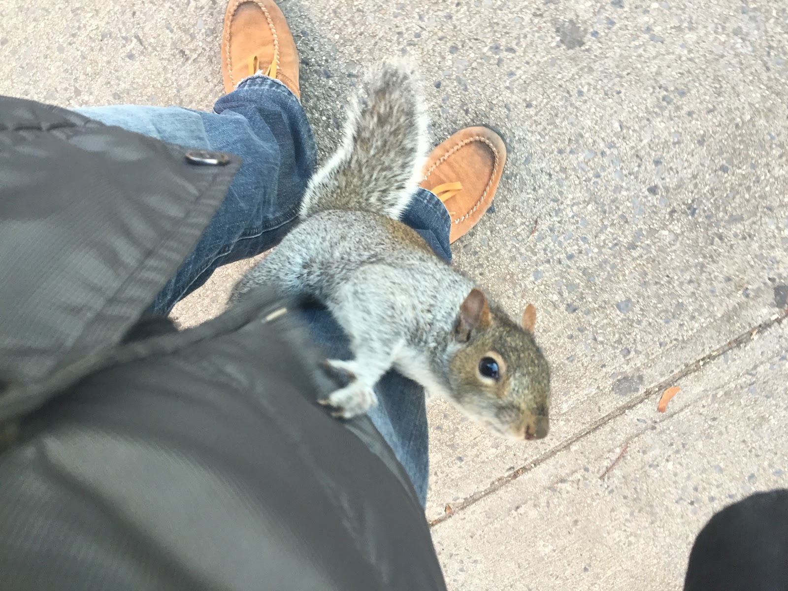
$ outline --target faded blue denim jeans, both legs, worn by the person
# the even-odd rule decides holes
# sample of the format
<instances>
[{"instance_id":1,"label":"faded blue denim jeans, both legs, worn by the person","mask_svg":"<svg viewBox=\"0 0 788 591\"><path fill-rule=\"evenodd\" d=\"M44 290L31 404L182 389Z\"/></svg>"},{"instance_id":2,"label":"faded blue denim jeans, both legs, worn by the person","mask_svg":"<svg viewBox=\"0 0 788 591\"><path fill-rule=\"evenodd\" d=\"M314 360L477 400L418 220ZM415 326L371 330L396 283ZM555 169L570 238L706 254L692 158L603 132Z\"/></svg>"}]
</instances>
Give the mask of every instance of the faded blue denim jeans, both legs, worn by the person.
<instances>
[{"instance_id":1,"label":"faded blue denim jeans, both legs, worn by the person","mask_svg":"<svg viewBox=\"0 0 788 591\"><path fill-rule=\"evenodd\" d=\"M227 196L202 238L158 297L151 311L169 314L178 300L204 284L214 269L275 246L297 221L315 168L314 136L295 95L278 80L251 76L219 99L212 113L181 107L99 106L76 111L132 132L243 158ZM451 262L451 220L435 195L418 189L402 221L440 258ZM301 311L310 336L329 358L348 359L348 339L322 307ZM410 475L422 506L427 495L427 419L424 392L388 372L375 391L370 418Z\"/></svg>"}]
</instances>

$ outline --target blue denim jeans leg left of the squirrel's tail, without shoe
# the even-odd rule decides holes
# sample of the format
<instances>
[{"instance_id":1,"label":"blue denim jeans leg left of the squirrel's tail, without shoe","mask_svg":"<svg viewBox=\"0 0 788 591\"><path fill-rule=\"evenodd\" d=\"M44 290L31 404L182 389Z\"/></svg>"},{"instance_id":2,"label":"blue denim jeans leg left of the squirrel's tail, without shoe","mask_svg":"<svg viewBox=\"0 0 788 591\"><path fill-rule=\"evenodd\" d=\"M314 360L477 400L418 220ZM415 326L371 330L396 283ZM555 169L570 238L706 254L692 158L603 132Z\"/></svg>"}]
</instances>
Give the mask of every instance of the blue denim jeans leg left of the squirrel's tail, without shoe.
<instances>
[{"instance_id":1,"label":"blue denim jeans leg left of the squirrel's tail, without shoe","mask_svg":"<svg viewBox=\"0 0 788 591\"><path fill-rule=\"evenodd\" d=\"M243 158L214 219L151 312L168 314L214 269L268 250L295 223L316 147L298 99L278 80L251 76L219 99L211 113L128 105L77 111L165 142Z\"/></svg>"}]
</instances>

